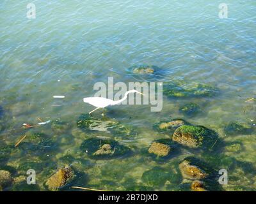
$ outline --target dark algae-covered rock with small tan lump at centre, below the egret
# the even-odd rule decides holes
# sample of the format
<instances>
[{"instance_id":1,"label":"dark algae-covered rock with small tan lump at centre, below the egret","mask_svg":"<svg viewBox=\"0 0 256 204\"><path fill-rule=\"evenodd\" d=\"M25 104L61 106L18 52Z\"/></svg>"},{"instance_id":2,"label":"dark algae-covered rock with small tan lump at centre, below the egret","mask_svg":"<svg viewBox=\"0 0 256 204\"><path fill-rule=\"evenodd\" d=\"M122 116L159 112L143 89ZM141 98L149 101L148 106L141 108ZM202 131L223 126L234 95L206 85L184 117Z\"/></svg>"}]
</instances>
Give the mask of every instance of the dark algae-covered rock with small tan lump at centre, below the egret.
<instances>
[{"instance_id":1,"label":"dark algae-covered rock with small tan lump at centre, below the egret","mask_svg":"<svg viewBox=\"0 0 256 204\"><path fill-rule=\"evenodd\" d=\"M92 158L110 159L112 157L124 156L131 152L129 147L120 145L115 140L89 138L84 140L80 146L81 151Z\"/></svg>"}]
</instances>

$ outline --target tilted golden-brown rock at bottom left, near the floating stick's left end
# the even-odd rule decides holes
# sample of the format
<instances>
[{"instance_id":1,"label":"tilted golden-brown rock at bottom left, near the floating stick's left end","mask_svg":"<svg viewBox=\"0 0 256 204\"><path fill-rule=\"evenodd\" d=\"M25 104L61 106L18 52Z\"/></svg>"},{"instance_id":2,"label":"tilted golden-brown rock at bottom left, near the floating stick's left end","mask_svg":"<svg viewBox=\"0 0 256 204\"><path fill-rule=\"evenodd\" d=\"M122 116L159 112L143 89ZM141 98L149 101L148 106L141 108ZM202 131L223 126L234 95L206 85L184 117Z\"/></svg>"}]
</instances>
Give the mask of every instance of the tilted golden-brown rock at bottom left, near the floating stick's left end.
<instances>
[{"instance_id":1,"label":"tilted golden-brown rock at bottom left, near the floating stick's left end","mask_svg":"<svg viewBox=\"0 0 256 204\"><path fill-rule=\"evenodd\" d=\"M45 185L50 191L58 191L61 187L66 186L74 179L74 171L69 166L61 168L59 171L54 173Z\"/></svg>"}]
</instances>

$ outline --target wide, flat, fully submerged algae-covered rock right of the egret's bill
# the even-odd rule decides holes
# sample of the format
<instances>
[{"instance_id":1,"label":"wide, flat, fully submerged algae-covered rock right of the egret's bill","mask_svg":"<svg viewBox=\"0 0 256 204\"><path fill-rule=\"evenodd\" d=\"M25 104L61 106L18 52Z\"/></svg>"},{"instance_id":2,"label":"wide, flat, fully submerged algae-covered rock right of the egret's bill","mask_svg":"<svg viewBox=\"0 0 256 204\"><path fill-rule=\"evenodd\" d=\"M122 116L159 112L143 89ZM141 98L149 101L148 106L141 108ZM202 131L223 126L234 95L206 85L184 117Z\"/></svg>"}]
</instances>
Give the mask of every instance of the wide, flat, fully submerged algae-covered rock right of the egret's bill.
<instances>
[{"instance_id":1,"label":"wide, flat, fully submerged algae-covered rock right of the egret's bill","mask_svg":"<svg viewBox=\"0 0 256 204\"><path fill-rule=\"evenodd\" d=\"M216 96L219 92L219 89L216 87L197 82L189 84L166 82L163 85L163 94L170 98L211 97Z\"/></svg>"}]
</instances>

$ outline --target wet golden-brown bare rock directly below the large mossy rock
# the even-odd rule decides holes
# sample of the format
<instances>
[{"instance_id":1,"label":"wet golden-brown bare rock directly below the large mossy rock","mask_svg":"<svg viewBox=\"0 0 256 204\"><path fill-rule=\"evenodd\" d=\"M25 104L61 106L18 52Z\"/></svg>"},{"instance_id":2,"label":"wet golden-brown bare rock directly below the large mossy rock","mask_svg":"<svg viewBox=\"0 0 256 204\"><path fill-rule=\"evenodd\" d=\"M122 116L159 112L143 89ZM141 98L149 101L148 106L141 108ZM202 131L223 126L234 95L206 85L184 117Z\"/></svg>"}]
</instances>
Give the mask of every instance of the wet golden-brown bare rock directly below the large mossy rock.
<instances>
[{"instance_id":1,"label":"wet golden-brown bare rock directly below the large mossy rock","mask_svg":"<svg viewBox=\"0 0 256 204\"><path fill-rule=\"evenodd\" d=\"M179 164L179 169L184 179L200 180L209 176L200 167L191 164L191 161L186 159Z\"/></svg>"}]
</instances>

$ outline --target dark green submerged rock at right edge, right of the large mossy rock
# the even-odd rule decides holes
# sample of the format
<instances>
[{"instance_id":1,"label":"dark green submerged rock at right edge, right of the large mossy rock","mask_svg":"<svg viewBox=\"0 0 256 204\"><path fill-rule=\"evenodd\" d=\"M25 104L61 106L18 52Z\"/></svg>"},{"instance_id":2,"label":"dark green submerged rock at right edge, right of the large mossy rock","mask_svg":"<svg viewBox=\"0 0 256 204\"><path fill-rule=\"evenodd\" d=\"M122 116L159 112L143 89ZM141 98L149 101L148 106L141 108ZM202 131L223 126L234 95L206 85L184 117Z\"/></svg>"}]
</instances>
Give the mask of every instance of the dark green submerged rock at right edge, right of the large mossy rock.
<instances>
[{"instance_id":1,"label":"dark green submerged rock at right edge, right of the large mossy rock","mask_svg":"<svg viewBox=\"0 0 256 204\"><path fill-rule=\"evenodd\" d=\"M253 128L244 123L230 122L225 128L226 135L249 135Z\"/></svg>"}]
</instances>

